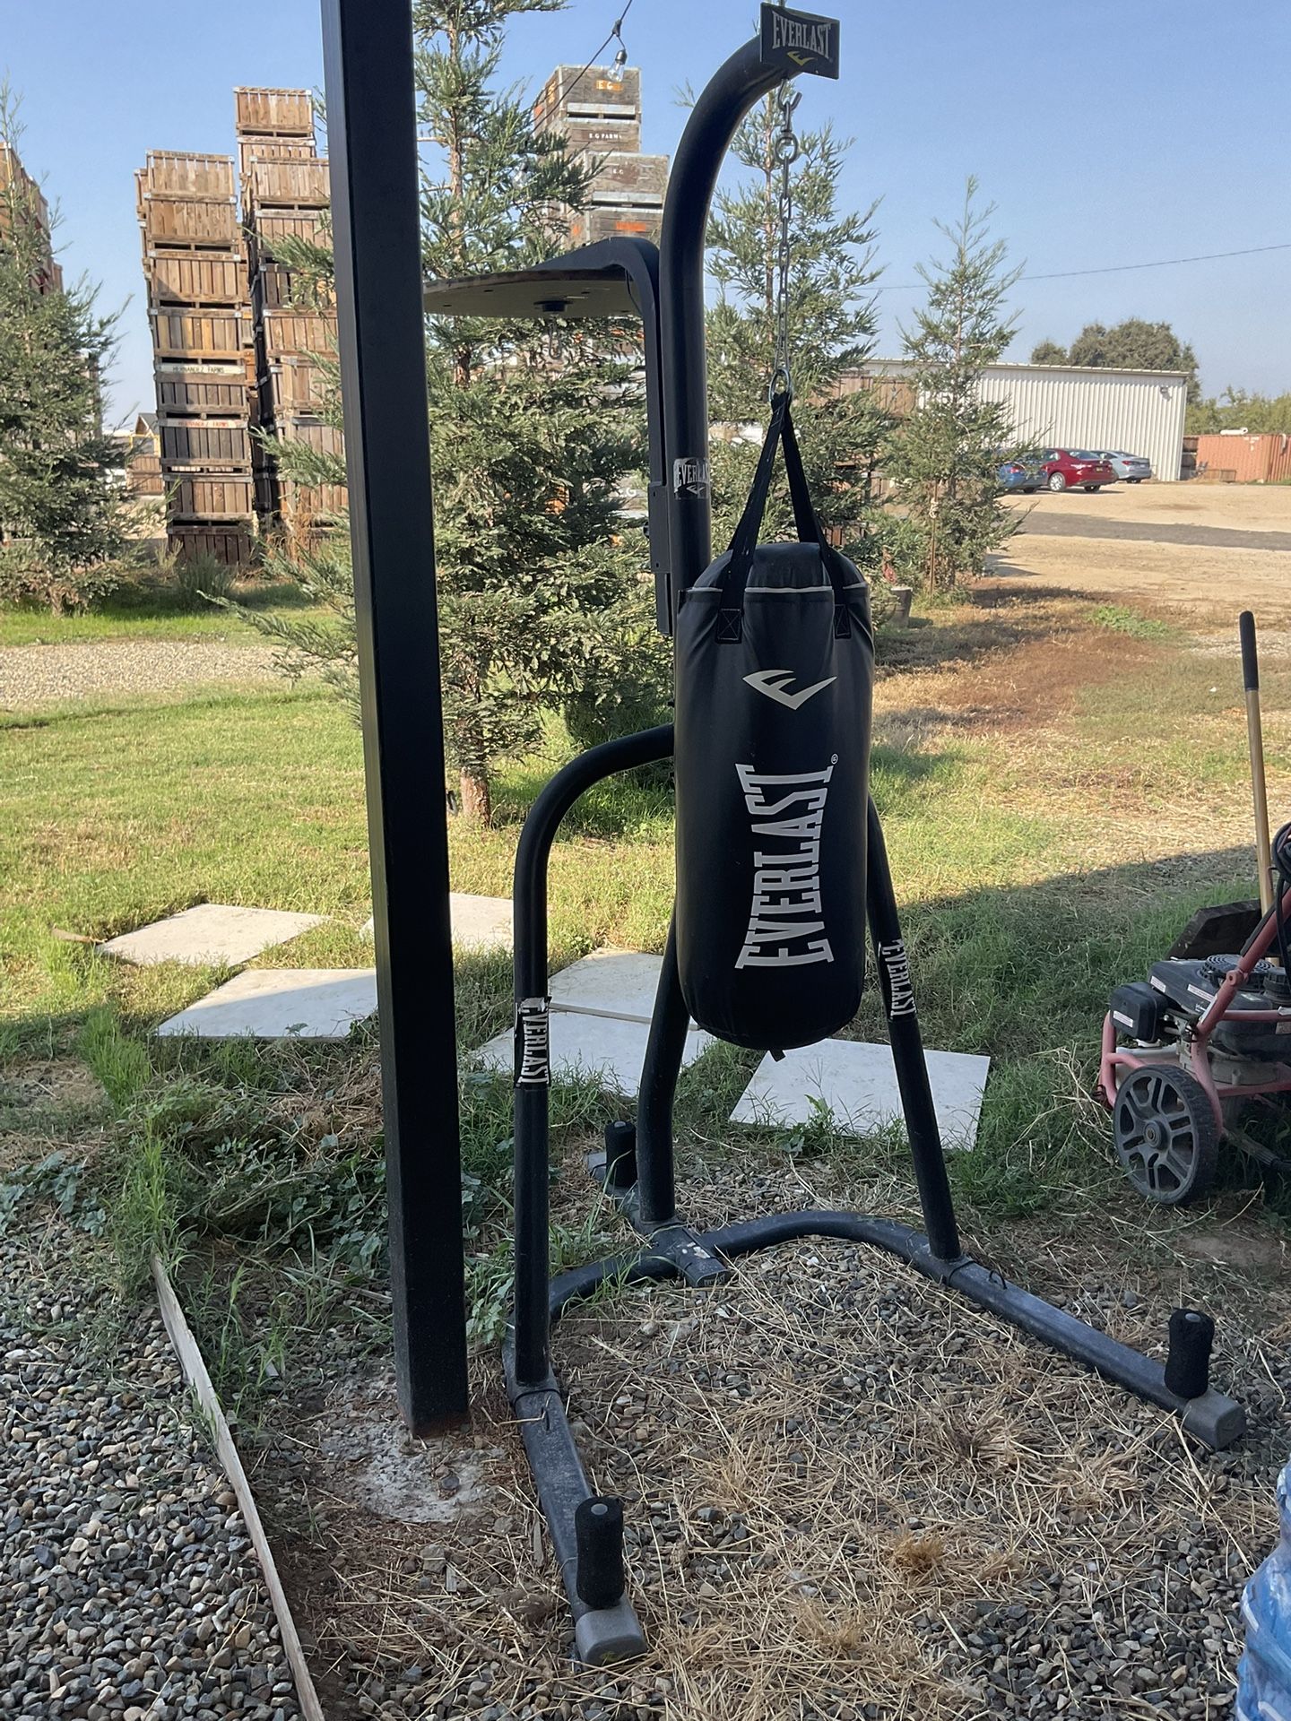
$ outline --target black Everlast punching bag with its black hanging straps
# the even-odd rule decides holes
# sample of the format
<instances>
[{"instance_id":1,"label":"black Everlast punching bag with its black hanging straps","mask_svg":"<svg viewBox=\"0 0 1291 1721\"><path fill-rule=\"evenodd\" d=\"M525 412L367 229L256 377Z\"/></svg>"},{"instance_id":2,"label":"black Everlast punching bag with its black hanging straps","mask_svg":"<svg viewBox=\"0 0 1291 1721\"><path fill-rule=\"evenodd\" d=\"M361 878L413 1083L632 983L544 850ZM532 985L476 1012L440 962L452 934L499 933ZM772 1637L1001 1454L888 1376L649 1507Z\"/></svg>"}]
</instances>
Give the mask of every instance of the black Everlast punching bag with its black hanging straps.
<instances>
[{"instance_id":1,"label":"black Everlast punching bag with its black hanging straps","mask_svg":"<svg viewBox=\"0 0 1291 1721\"><path fill-rule=\"evenodd\" d=\"M781 441L800 542L757 544ZM676 618L676 959L694 1019L738 1046L812 1045L861 1003L873 680L869 590L825 542L781 398Z\"/></svg>"}]
</instances>

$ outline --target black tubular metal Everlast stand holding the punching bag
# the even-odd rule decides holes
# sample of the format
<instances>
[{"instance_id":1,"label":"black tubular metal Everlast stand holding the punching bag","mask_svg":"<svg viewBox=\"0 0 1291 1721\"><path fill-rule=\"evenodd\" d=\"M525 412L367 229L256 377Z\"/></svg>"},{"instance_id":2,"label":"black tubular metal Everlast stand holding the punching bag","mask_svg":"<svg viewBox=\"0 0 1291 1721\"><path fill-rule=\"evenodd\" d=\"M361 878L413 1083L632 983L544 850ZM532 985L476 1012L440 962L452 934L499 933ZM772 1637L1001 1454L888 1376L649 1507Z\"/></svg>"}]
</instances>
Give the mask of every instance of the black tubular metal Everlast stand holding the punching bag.
<instances>
[{"instance_id":1,"label":"black tubular metal Everlast stand holding the punching bag","mask_svg":"<svg viewBox=\"0 0 1291 1721\"><path fill-rule=\"evenodd\" d=\"M800 72L838 76L835 19L763 5L761 34L718 71L695 102L673 160L656 246L606 239L535 268L432 282L425 305L453 317L621 317L646 332L649 425L649 540L658 623L671 635L676 599L704 571L709 552L707 382L704 355L704 227L726 148L744 115ZM1210 1447L1236 1440L1239 1404L1208 1384L1214 1322L1176 1310L1165 1363L1119 1344L1086 1322L1009 1284L966 1255L950 1200L942 1139L923 1055L919 1017L888 871L883 833L869 804L866 912L897 1067L924 1231L861 1213L775 1213L692 1231L678 1215L673 1182L673 1096L689 1012L670 931L651 1019L637 1120L611 1124L599 1167L602 1186L646 1239L642 1248L578 1267L554 1280L547 1237L547 860L561 819L594 783L616 771L668 759L671 725L592 747L547 783L520 835L515 864L515 1318L506 1344L506 1385L537 1482L580 1661L604 1664L640 1654L646 1640L623 1575L621 1502L592 1494L570 1432L565 1394L551 1366L551 1327L606 1280L685 1279L711 1286L730 1260L797 1237L871 1243L952 1286L1064 1356L1164 1409Z\"/></svg>"}]
</instances>

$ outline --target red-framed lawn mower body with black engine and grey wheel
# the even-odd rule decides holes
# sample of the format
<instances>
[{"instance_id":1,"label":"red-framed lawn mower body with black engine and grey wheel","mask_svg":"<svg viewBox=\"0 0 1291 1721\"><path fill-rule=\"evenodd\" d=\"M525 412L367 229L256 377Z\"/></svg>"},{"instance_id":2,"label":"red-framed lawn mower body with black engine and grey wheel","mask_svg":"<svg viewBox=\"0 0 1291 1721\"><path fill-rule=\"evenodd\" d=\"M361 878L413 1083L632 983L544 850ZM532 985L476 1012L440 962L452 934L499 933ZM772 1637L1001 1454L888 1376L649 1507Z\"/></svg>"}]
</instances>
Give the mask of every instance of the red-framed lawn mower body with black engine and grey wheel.
<instances>
[{"instance_id":1,"label":"red-framed lawn mower body with black engine and grey wheel","mask_svg":"<svg viewBox=\"0 0 1291 1721\"><path fill-rule=\"evenodd\" d=\"M1201 1021L1229 986L1205 1029ZM1152 1201L1184 1206L1210 1187L1224 1138L1267 1163L1279 1155L1236 1127L1236 1112L1291 1089L1291 979L1253 950L1153 962L1117 986L1103 1024L1100 1093L1117 1158Z\"/></svg>"}]
</instances>

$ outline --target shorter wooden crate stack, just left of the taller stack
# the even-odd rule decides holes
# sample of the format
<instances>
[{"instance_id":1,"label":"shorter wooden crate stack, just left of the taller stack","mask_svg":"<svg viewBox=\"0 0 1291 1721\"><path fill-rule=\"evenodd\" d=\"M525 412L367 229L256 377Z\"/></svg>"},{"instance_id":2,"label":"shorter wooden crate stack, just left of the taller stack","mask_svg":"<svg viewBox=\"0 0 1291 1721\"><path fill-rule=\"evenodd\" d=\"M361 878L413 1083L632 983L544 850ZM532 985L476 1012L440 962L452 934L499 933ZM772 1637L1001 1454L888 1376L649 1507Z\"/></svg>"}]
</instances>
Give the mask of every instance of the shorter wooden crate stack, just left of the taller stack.
<instances>
[{"instance_id":1,"label":"shorter wooden crate stack, just left of the taller stack","mask_svg":"<svg viewBox=\"0 0 1291 1721\"><path fill-rule=\"evenodd\" d=\"M251 313L232 157L150 150L136 174L167 539L251 559Z\"/></svg>"}]
</instances>

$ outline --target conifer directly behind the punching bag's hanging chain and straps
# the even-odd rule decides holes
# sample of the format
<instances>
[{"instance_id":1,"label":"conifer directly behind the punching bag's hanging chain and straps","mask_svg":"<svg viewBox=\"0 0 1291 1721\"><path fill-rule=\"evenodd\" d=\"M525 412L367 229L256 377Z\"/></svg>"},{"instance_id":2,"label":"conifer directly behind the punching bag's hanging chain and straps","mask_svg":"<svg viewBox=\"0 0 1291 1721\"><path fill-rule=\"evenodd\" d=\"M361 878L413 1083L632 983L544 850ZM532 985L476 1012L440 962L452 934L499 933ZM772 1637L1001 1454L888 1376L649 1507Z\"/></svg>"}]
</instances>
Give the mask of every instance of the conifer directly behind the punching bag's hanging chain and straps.
<instances>
[{"instance_id":1,"label":"conifer directly behind the punching bag's hanging chain and straps","mask_svg":"<svg viewBox=\"0 0 1291 1721\"><path fill-rule=\"evenodd\" d=\"M764 425L775 361L780 250L780 112L769 95L740 127L732 153L745 170L714 198L707 265L718 299L707 313L709 413L716 423ZM850 139L831 126L799 136L790 169L792 222L788 339L794 422L807 480L825 525L854 559L874 561L871 480L892 420L866 389L842 379L864 365L874 344L874 207L838 208L838 181ZM714 540L725 546L752 480L757 447L745 434L713 444ZM766 511L768 537L792 537L783 473Z\"/></svg>"}]
</instances>

